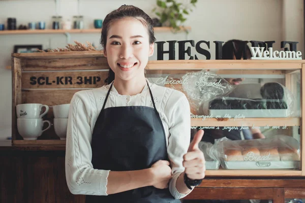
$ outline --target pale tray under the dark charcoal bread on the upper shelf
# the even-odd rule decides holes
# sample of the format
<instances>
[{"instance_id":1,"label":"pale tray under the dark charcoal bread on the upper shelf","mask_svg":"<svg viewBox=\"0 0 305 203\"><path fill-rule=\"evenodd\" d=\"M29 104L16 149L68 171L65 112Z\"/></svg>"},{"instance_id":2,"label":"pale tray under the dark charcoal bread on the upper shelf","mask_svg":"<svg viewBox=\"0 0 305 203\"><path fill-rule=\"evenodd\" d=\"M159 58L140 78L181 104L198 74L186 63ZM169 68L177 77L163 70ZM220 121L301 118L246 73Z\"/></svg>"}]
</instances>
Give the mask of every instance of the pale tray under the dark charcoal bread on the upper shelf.
<instances>
[{"instance_id":1,"label":"pale tray under the dark charcoal bread on the upper shelf","mask_svg":"<svg viewBox=\"0 0 305 203\"><path fill-rule=\"evenodd\" d=\"M289 115L287 109L210 109L209 115L212 118L220 116L221 118L231 116L234 118L237 115L245 116L245 118L285 118Z\"/></svg>"}]
</instances>

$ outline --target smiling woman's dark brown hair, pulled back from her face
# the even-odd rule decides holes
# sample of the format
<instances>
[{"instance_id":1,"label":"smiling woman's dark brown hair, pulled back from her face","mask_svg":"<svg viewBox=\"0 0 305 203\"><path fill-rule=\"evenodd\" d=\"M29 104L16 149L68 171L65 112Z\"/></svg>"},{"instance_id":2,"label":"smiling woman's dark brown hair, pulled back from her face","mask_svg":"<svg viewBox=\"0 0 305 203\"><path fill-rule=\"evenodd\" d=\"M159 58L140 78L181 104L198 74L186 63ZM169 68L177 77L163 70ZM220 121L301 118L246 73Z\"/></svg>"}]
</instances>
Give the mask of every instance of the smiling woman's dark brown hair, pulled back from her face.
<instances>
[{"instance_id":1,"label":"smiling woman's dark brown hair, pulled back from her face","mask_svg":"<svg viewBox=\"0 0 305 203\"><path fill-rule=\"evenodd\" d=\"M107 33L111 23L115 20L125 18L125 17L133 17L140 20L143 25L147 27L149 43L153 44L156 41L155 33L154 33L154 21L141 9L135 6L123 5L118 9L109 13L104 21L103 21L103 29L101 36L101 45L104 49L106 49L107 43ZM109 69L108 78L105 80L107 84L110 84L114 80L114 72Z\"/></svg>"}]
</instances>

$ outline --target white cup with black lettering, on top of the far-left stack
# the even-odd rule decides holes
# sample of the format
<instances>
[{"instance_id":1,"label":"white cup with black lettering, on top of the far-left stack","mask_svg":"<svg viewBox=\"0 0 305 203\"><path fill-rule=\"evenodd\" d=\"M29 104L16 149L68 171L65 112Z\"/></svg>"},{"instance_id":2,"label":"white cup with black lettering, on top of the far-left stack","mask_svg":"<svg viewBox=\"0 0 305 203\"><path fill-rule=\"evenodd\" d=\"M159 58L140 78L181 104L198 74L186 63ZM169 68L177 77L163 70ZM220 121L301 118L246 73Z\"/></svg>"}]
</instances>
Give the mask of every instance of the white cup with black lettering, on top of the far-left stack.
<instances>
[{"instance_id":1,"label":"white cup with black lettering, on top of the far-left stack","mask_svg":"<svg viewBox=\"0 0 305 203\"><path fill-rule=\"evenodd\" d=\"M42 108L46 110L42 113ZM49 107L42 104L22 104L16 106L17 118L42 118L49 112Z\"/></svg>"}]
</instances>

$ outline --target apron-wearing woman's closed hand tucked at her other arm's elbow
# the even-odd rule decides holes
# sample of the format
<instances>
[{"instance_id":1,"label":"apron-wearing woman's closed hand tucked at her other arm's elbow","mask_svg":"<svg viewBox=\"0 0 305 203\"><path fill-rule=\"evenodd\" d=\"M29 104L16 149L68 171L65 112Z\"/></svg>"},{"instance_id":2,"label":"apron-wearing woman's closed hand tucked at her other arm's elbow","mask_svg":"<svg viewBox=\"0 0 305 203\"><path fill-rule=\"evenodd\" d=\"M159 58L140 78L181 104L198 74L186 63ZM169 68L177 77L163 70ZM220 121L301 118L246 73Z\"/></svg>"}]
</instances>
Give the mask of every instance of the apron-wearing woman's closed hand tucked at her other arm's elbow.
<instances>
[{"instance_id":1,"label":"apron-wearing woman's closed hand tucked at her other arm's elbow","mask_svg":"<svg viewBox=\"0 0 305 203\"><path fill-rule=\"evenodd\" d=\"M169 164L168 161L159 160L150 167L153 173L153 183L151 185L159 189L168 187L168 182L171 179Z\"/></svg>"}]
</instances>

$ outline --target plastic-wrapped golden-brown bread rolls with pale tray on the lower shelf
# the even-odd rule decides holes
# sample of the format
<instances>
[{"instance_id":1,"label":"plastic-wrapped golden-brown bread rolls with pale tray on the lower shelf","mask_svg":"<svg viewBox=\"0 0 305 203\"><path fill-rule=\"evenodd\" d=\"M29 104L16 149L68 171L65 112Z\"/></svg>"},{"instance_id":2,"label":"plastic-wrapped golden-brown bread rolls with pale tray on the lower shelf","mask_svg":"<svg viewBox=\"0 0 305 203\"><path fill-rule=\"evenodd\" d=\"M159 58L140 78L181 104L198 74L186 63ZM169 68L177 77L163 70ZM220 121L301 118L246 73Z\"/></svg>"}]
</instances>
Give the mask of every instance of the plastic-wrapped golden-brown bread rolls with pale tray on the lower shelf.
<instances>
[{"instance_id":1,"label":"plastic-wrapped golden-brown bread rolls with pale tray on the lower shelf","mask_svg":"<svg viewBox=\"0 0 305 203\"><path fill-rule=\"evenodd\" d=\"M294 168L296 164L293 161L300 160L300 144L294 138L285 135L238 141L222 138L215 141L213 149L223 168L228 168L229 162L240 161L243 162L240 169L257 169L257 164L251 165L252 162L270 163L273 167L276 165L275 168ZM245 164L248 163L247 168Z\"/></svg>"}]
</instances>

